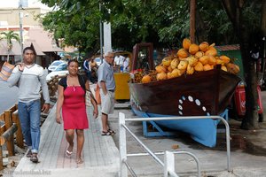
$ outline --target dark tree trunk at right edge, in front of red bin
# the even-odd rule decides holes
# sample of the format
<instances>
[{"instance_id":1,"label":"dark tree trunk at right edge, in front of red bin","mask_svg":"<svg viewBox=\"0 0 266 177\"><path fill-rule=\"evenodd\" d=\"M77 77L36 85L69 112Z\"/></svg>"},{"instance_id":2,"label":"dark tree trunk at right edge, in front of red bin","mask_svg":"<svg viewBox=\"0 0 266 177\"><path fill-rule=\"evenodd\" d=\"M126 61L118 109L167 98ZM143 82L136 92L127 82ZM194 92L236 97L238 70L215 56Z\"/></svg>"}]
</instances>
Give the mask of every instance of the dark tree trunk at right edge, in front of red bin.
<instances>
[{"instance_id":1,"label":"dark tree trunk at right edge, in front of red bin","mask_svg":"<svg viewBox=\"0 0 266 177\"><path fill-rule=\"evenodd\" d=\"M265 17L266 1L243 1L243 0L223 0L223 6L231 20L235 34L239 37L241 56L244 65L246 81L246 115L242 121L242 127L245 129L258 128L257 111L257 78L254 70L254 60L250 51L258 40L265 36ZM252 10L248 12L248 9ZM246 13L244 13L246 11ZM256 20L256 24L250 23L250 16L255 14L261 20ZM256 37L258 36L258 37Z\"/></svg>"}]
</instances>

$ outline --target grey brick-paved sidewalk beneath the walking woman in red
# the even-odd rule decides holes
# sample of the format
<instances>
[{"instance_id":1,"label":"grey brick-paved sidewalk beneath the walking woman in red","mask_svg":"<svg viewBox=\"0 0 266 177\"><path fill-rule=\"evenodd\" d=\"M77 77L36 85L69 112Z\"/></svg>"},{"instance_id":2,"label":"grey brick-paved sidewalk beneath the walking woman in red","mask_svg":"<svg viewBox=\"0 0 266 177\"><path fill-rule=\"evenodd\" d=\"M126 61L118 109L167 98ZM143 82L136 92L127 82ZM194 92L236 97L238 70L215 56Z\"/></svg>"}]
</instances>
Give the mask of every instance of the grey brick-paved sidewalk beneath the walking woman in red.
<instances>
[{"instance_id":1,"label":"grey brick-paved sidewalk beneath the walking woman in red","mask_svg":"<svg viewBox=\"0 0 266 177\"><path fill-rule=\"evenodd\" d=\"M100 119L92 118L92 107L87 112L90 118L89 130L84 130L85 143L83 147L82 165L75 163L76 142L71 158L65 156L67 142L63 126L55 122L56 105L41 129L41 142L38 164L30 162L29 158L21 158L13 176L118 176L119 151L112 136L101 135ZM75 136L76 137L76 136ZM75 139L75 138L74 138ZM36 174L36 175L35 175Z\"/></svg>"}]
</instances>

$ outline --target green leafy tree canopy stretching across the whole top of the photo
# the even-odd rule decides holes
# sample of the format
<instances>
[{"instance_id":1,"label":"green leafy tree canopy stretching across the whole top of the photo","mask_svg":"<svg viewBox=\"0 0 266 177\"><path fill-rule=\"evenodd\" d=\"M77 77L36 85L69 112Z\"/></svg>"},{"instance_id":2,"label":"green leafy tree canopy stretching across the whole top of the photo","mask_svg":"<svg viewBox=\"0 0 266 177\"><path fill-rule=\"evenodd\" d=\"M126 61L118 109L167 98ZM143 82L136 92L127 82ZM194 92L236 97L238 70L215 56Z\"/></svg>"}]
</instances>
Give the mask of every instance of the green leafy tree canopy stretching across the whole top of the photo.
<instances>
[{"instance_id":1,"label":"green leafy tree canopy stretching across the whole top of the photo","mask_svg":"<svg viewBox=\"0 0 266 177\"><path fill-rule=\"evenodd\" d=\"M246 1L245 19L258 27L260 6ZM42 0L55 6L43 19L45 29L55 39L81 51L99 50L99 21L111 22L115 49L132 50L136 42L153 42L156 47L179 47L190 29L189 0ZM101 9L99 10L99 3ZM220 1L197 1L198 41L216 44L238 43L233 27Z\"/></svg>"}]
</instances>

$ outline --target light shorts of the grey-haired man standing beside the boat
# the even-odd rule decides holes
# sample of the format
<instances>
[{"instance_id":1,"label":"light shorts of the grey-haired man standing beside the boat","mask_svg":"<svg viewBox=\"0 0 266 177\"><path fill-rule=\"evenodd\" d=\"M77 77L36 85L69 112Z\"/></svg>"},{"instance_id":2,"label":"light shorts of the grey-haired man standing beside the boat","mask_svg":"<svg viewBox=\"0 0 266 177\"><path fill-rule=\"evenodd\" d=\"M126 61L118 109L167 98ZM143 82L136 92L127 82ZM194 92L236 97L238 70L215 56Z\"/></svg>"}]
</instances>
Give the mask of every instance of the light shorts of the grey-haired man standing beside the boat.
<instances>
[{"instance_id":1,"label":"light shorts of the grey-haired man standing beside the boat","mask_svg":"<svg viewBox=\"0 0 266 177\"><path fill-rule=\"evenodd\" d=\"M100 89L101 95L101 112L105 114L113 113L114 109L114 92L108 91L105 95L103 89Z\"/></svg>"}]
</instances>

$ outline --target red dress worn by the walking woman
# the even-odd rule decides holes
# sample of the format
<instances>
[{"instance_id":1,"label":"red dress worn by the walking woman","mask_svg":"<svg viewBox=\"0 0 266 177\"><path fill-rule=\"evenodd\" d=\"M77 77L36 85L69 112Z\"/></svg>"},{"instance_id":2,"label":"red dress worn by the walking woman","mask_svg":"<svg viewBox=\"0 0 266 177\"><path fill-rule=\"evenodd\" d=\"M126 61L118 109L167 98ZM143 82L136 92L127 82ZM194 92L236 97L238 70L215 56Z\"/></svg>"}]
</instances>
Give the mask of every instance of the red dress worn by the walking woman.
<instances>
[{"instance_id":1,"label":"red dress worn by the walking woman","mask_svg":"<svg viewBox=\"0 0 266 177\"><path fill-rule=\"evenodd\" d=\"M65 130L89 128L85 91L81 86L67 86L64 90L62 116Z\"/></svg>"}]
</instances>

